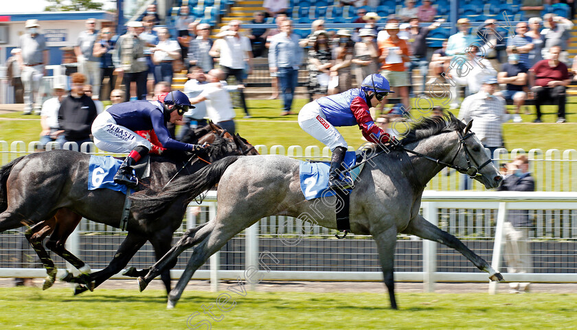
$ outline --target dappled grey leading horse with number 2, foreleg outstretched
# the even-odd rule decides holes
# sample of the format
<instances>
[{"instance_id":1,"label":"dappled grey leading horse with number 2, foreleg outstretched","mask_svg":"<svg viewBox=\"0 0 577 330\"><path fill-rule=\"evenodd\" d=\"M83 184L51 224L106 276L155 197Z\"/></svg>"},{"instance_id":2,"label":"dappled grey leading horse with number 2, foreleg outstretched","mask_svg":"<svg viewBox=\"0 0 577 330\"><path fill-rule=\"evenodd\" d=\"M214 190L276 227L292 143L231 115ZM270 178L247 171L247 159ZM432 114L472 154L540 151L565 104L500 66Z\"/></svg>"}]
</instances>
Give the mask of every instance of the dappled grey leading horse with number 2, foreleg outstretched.
<instances>
[{"instance_id":1,"label":"dappled grey leading horse with number 2, foreleg outstretched","mask_svg":"<svg viewBox=\"0 0 577 330\"><path fill-rule=\"evenodd\" d=\"M471 122L465 126L452 114L422 119L415 123L403 148L374 154L359 176L350 195L350 228L359 235L372 235L378 248L384 282L389 291L391 307L396 309L394 295L394 252L398 233L416 235L438 241L459 251L489 279L501 281L497 270L469 250L453 235L442 231L419 215L425 185L443 167L468 172L486 188L498 187L502 177L490 161L482 143L472 132ZM377 150L378 146L374 148ZM398 150L400 149L400 150ZM415 154L416 153L416 154ZM433 163L433 161L435 161ZM473 166L476 165L477 167ZM192 274L229 239L262 217L288 215L303 217L326 228L336 229L336 197L328 202L305 200L299 185L299 161L286 156L231 156L205 167L186 180L175 182L166 193L134 196L148 202L148 212L159 212L175 196L192 199L218 182L216 217L203 226L189 229L171 250L155 263L146 276L139 277L140 290L187 248L192 256L179 283L170 292L168 308L179 300ZM328 204L328 205L327 205ZM315 209L315 211L311 211ZM144 211L144 210L143 210Z\"/></svg>"}]
</instances>

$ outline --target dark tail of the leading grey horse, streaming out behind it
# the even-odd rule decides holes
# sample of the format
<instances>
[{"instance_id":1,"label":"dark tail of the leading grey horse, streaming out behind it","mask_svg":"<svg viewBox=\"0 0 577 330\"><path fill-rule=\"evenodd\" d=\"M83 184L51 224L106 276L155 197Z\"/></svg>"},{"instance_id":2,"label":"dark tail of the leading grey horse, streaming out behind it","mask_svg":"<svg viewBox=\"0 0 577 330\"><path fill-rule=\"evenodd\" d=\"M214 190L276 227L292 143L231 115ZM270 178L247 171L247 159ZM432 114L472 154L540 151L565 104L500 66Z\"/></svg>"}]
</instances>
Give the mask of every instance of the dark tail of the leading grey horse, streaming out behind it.
<instances>
[{"instance_id":1,"label":"dark tail of the leading grey horse, streaming out behind it","mask_svg":"<svg viewBox=\"0 0 577 330\"><path fill-rule=\"evenodd\" d=\"M158 195L135 193L131 199L138 203L139 213L142 212L152 219L160 217L170 207L174 199L186 196L188 203L203 191L214 187L225 170L236 162L238 157L240 156L228 156L207 165L190 176L181 176L172 181L168 190L162 191Z\"/></svg>"}]
</instances>

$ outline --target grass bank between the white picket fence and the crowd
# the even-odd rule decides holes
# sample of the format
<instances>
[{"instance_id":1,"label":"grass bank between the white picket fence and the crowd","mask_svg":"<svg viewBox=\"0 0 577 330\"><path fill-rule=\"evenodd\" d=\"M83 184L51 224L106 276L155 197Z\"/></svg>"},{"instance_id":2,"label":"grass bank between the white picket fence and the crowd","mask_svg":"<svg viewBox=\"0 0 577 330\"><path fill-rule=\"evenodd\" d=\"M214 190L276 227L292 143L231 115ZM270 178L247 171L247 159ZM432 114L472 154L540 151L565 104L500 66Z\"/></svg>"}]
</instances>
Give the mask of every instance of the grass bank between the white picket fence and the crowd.
<instances>
[{"instance_id":1,"label":"grass bank between the white picket fence and the crowd","mask_svg":"<svg viewBox=\"0 0 577 330\"><path fill-rule=\"evenodd\" d=\"M281 101L278 99L247 100L251 119L242 118L242 110L236 109L238 117L235 119L237 132L248 139L253 145L264 144L269 148L272 145L318 145L324 147L319 141L306 134L297 123L297 116L291 115L280 117ZM298 112L306 104L305 99L295 99L293 111ZM440 105L440 101L435 100L435 105ZM511 109L512 106L509 106ZM534 112L534 106L529 106ZM577 104L567 104L567 119L577 121L575 115ZM521 111L522 112L522 111ZM576 136L576 123L554 123L556 121L556 107L543 107L544 123L531 123L535 115L521 115L523 123L505 123L503 126L506 147L509 150L523 148L530 150L533 148L547 149L574 149L573 138ZM420 117L417 110L412 110L414 117ZM455 110L455 115L458 110ZM19 120L23 119L23 120ZM402 127L402 126L401 126ZM8 113L0 115L0 141L37 141L41 131L40 116L21 115L21 113ZM357 148L365 141L357 126L341 127L339 132L343 134L349 145Z\"/></svg>"}]
</instances>

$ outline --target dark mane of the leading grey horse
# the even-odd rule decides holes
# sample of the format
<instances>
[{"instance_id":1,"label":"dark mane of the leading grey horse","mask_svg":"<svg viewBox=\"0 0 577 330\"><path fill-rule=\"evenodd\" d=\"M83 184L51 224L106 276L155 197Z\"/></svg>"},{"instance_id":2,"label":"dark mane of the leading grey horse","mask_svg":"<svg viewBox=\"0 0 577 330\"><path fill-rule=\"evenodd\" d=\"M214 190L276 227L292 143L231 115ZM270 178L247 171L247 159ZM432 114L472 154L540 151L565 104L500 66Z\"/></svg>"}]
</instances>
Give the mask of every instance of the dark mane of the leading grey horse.
<instances>
[{"instance_id":1,"label":"dark mane of the leading grey horse","mask_svg":"<svg viewBox=\"0 0 577 330\"><path fill-rule=\"evenodd\" d=\"M409 145L442 132L462 132L465 126L453 113L442 117L421 117L411 125L409 132L400 142L402 145Z\"/></svg>"}]
</instances>

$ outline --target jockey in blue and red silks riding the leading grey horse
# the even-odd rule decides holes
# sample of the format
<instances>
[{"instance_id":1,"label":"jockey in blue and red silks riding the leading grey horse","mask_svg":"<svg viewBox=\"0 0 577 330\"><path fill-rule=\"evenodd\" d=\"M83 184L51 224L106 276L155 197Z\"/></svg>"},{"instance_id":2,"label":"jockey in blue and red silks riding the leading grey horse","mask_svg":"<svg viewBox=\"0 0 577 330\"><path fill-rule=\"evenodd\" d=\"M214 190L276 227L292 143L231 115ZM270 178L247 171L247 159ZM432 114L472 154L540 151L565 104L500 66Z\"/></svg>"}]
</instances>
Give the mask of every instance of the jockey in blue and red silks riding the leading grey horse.
<instances>
[{"instance_id":1,"label":"jockey in blue and red silks riding the leading grey horse","mask_svg":"<svg viewBox=\"0 0 577 330\"><path fill-rule=\"evenodd\" d=\"M390 91L389 82L380 74L368 75L360 89L321 97L306 104L299 112L299 126L332 151L329 172L329 187L345 189L353 187L350 176L341 180L343 160L347 143L335 128L359 125L363 137L372 143L398 144L394 137L375 125L369 108L381 103Z\"/></svg>"}]
</instances>

